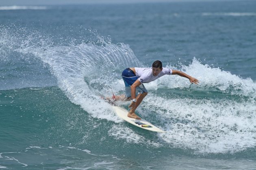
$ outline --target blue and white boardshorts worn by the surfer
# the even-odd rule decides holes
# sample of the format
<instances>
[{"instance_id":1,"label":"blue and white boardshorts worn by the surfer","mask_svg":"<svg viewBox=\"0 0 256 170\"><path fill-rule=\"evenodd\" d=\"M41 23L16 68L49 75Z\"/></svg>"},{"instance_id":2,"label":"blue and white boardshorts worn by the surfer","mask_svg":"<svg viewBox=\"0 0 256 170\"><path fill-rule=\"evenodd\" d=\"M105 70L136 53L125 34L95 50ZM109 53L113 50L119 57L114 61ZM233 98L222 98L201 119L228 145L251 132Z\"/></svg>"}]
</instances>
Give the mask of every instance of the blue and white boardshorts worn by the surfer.
<instances>
[{"instance_id":1,"label":"blue and white boardshorts worn by the surfer","mask_svg":"<svg viewBox=\"0 0 256 170\"><path fill-rule=\"evenodd\" d=\"M124 80L125 85L125 96L126 98L131 97L131 85L138 79L138 77L134 74L134 72L130 68L126 68L122 72L122 78ZM145 88L143 84L136 87L136 96L137 94L148 93L148 90Z\"/></svg>"}]
</instances>

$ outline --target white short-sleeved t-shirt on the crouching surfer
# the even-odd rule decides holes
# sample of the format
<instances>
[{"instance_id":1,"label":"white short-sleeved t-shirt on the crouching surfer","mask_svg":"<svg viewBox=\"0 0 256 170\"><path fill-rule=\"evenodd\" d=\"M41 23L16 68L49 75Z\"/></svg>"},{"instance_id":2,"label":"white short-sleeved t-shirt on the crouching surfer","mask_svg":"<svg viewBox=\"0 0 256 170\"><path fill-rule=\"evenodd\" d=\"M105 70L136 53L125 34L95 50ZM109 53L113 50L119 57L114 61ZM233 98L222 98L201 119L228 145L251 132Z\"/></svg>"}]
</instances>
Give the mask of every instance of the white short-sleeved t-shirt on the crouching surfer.
<instances>
[{"instance_id":1,"label":"white short-sleeved t-shirt on the crouching surfer","mask_svg":"<svg viewBox=\"0 0 256 170\"><path fill-rule=\"evenodd\" d=\"M150 67L150 68L135 67L135 72L136 72L136 76L138 77L138 80L141 83L149 83L151 81L158 79L159 77L164 76L165 74L168 74L168 75L172 74L171 69L164 68L164 67L163 67L163 70L157 76L153 75L152 67Z\"/></svg>"}]
</instances>

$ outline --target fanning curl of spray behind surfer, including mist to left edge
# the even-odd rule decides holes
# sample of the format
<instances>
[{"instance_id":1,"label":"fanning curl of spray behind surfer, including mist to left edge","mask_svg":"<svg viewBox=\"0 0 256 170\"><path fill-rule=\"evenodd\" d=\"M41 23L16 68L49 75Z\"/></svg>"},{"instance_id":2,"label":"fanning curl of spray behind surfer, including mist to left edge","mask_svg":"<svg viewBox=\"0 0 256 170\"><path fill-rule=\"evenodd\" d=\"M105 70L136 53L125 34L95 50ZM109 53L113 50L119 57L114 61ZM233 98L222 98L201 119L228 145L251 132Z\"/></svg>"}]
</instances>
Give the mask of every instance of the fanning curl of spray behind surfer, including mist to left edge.
<instances>
[{"instance_id":1,"label":"fanning curl of spray behind surfer, including mist to left edge","mask_svg":"<svg viewBox=\"0 0 256 170\"><path fill-rule=\"evenodd\" d=\"M8 29L2 31L2 53L11 53L11 56L18 53L24 60L33 57L43 61L71 102L94 117L118 120L101 96L115 89L121 69L141 65L128 45L115 45L97 35L95 42L52 45L49 38L41 37L38 32L24 36L20 31L27 34L25 29L15 34ZM2 57L1 60L12 59Z\"/></svg>"}]
</instances>

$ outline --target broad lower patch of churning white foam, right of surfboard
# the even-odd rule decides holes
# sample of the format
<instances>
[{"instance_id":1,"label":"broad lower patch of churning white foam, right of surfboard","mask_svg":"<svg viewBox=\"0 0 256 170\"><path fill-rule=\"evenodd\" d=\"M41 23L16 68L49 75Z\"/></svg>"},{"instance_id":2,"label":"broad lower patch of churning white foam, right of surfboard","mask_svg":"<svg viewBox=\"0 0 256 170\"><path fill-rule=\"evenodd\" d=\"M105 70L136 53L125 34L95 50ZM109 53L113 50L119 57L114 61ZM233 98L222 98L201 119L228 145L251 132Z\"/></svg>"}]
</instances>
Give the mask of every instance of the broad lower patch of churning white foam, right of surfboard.
<instances>
[{"instance_id":1,"label":"broad lower patch of churning white foam, right of surfboard","mask_svg":"<svg viewBox=\"0 0 256 170\"><path fill-rule=\"evenodd\" d=\"M149 94L143 108L163 122L163 140L199 153L236 152L254 147L256 104L229 100L166 99ZM154 98L154 100L152 100ZM142 116L148 116L148 110Z\"/></svg>"}]
</instances>

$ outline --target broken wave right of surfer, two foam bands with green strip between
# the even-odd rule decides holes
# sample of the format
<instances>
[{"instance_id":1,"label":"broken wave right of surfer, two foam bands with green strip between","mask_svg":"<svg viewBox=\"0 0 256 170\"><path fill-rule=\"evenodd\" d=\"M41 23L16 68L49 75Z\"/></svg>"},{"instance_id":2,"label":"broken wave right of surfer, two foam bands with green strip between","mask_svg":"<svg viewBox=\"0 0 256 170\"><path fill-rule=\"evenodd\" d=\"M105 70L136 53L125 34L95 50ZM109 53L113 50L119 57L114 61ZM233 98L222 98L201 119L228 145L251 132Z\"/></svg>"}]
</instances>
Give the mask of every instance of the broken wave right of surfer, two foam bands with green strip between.
<instances>
[{"instance_id":1,"label":"broken wave right of surfer, two foam bands with green strip between","mask_svg":"<svg viewBox=\"0 0 256 170\"><path fill-rule=\"evenodd\" d=\"M163 77L151 86L158 88L159 94L146 98L141 110L157 114L168 131L163 140L198 153L235 153L253 148L256 83L196 59L182 70L197 77L200 84L191 85L181 77Z\"/></svg>"}]
</instances>

